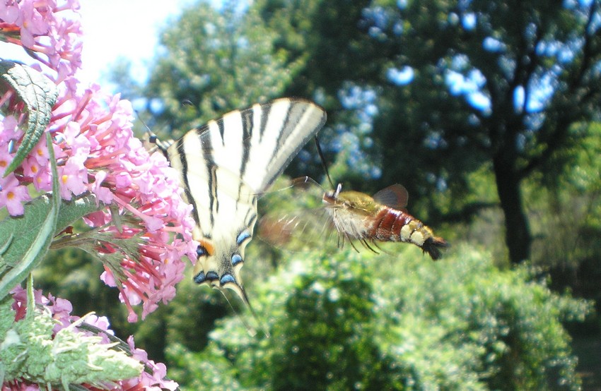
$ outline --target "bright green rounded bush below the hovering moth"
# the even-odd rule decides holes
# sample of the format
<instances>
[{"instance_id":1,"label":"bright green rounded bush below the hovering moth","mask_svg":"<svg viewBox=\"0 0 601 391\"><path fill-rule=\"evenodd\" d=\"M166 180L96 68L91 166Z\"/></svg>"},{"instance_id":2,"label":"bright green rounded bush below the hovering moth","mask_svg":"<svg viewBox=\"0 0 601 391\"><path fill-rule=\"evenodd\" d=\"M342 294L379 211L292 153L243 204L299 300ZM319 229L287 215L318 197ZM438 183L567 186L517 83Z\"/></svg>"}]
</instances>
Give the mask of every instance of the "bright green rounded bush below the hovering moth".
<instances>
[{"instance_id":1,"label":"bright green rounded bush below the hovering moth","mask_svg":"<svg viewBox=\"0 0 601 391\"><path fill-rule=\"evenodd\" d=\"M223 388L578 389L561 321L582 320L588 303L467 246L438 263L412 247L310 253L253 293L271 337L226 318L204 351L171 346L185 387L211 373Z\"/></svg>"}]
</instances>

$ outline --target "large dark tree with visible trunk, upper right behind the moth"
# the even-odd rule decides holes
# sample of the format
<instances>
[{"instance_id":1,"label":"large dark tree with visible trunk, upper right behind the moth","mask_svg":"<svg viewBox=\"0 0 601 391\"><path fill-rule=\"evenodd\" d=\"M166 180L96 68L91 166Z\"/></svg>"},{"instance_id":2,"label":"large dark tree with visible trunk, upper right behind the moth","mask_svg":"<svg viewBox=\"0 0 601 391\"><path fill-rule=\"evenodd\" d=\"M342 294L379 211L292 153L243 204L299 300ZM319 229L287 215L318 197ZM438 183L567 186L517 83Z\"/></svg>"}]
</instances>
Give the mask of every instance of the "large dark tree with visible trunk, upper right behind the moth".
<instances>
[{"instance_id":1,"label":"large dark tree with visible trunk, upper right behind the moth","mask_svg":"<svg viewBox=\"0 0 601 391\"><path fill-rule=\"evenodd\" d=\"M325 92L329 118L342 117L344 104L335 100L349 85L377 93L371 136L381 181L403 179L420 198L448 186L460 199L467 174L490 164L510 259L530 257L521 184L571 146L571 125L597 114L598 1L265 0L257 7L274 30L284 26L281 47L306 59L301 80L317 80L308 85ZM288 91L299 89L293 83ZM454 214L474 210L456 205Z\"/></svg>"}]
</instances>

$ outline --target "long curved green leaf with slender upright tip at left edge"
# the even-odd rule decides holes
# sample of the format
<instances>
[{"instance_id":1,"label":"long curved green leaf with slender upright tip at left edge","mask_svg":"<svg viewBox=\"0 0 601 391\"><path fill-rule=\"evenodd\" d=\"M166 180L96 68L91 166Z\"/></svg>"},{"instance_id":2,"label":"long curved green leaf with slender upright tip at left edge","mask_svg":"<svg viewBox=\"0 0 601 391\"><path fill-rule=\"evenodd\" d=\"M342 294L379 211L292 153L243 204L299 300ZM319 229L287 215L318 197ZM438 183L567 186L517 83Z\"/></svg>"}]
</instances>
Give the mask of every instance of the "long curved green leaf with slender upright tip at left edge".
<instances>
[{"instance_id":1,"label":"long curved green leaf with slender upright tip at left edge","mask_svg":"<svg viewBox=\"0 0 601 391\"><path fill-rule=\"evenodd\" d=\"M0 239L0 243L3 243L3 247L8 243L8 248L2 255L4 265L0 269L0 300L42 261L57 227L61 198L57 162L54 160L49 133L46 133L46 143L52 167L54 195L37 198L31 206L25 207L23 217L7 217L0 224L0 238L5 239Z\"/></svg>"}]
</instances>

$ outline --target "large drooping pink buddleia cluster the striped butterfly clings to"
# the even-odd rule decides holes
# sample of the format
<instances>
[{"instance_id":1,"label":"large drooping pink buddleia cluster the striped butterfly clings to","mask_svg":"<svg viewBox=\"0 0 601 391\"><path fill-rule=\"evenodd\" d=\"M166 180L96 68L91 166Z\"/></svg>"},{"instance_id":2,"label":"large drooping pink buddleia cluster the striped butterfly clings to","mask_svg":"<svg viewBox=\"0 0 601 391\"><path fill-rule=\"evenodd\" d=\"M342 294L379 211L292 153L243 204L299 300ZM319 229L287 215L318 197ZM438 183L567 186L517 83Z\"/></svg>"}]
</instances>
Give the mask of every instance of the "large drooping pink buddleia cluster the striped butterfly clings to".
<instances>
[{"instance_id":1,"label":"large drooping pink buddleia cluster the striped butterfly clings to","mask_svg":"<svg viewBox=\"0 0 601 391\"><path fill-rule=\"evenodd\" d=\"M136 219L135 225L125 224L117 229L110 224L112 217L108 211L88 217L88 224L104 226L100 232L118 239L138 237L140 240L136 259L124 253L120 270L110 265L103 273L105 283L121 290L119 297L129 308L129 320L134 321L137 315L132 306L143 303L144 318L159 302L173 299L175 284L180 282L185 269L182 256L194 259L196 246L190 234L193 227L190 207L182 201L177 174L165 157L149 156L140 140L134 138L129 102L119 100L118 96L104 95L95 87L83 92L77 101L83 105L75 107L71 121L56 130L61 135L58 145L65 153L63 159L66 158L59 171L61 178L85 187L86 191L95 193L98 200L112 202L124 215ZM61 112L60 108L56 110ZM74 122L78 126L74 126ZM78 142L80 138L85 138L85 142ZM66 152L77 155L78 150L84 151L79 156L86 157L82 163L87 178L69 170L72 157L67 157ZM71 191L77 195L81 191L81 187L73 191L73 187L64 185L62 194ZM176 240L173 234L181 235L182 240ZM121 252L112 243L102 243L98 251Z\"/></svg>"}]
</instances>

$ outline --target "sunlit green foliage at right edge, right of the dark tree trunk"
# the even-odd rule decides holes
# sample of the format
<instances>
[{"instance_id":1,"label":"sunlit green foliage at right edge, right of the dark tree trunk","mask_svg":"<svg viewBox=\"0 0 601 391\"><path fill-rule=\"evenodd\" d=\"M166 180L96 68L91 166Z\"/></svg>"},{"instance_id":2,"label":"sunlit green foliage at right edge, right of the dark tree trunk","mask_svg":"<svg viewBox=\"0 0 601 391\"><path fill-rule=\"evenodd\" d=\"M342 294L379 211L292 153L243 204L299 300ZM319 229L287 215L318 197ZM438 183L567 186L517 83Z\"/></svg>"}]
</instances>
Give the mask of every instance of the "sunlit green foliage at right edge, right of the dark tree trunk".
<instances>
[{"instance_id":1,"label":"sunlit green foliage at right edge, right of the dark tree trunk","mask_svg":"<svg viewBox=\"0 0 601 391\"><path fill-rule=\"evenodd\" d=\"M601 254L601 125L573 126L571 138L570 148L553 156L547 174L525 186L535 217L533 260L551 267L577 268Z\"/></svg>"}]
</instances>

